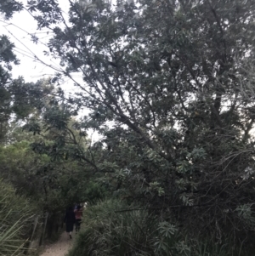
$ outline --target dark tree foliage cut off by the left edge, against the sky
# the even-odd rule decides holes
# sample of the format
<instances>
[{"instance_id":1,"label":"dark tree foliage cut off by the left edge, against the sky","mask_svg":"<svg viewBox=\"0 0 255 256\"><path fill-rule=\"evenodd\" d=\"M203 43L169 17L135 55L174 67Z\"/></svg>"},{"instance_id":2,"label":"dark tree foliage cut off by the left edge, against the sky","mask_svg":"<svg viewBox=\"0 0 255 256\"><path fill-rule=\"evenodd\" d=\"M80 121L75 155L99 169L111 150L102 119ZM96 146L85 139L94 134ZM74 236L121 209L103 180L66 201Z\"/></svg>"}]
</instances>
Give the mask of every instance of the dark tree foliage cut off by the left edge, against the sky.
<instances>
[{"instance_id":1,"label":"dark tree foliage cut off by the left edge, against the sky","mask_svg":"<svg viewBox=\"0 0 255 256\"><path fill-rule=\"evenodd\" d=\"M2 1L0 13L5 20L12 18L14 12L23 9L16 1ZM20 60L14 54L14 43L5 35L0 35L0 140L8 143L7 134L10 122L27 117L32 110L28 102L27 87L22 77L12 79L12 65L19 65ZM30 84L31 85L31 84Z\"/></svg>"}]
</instances>

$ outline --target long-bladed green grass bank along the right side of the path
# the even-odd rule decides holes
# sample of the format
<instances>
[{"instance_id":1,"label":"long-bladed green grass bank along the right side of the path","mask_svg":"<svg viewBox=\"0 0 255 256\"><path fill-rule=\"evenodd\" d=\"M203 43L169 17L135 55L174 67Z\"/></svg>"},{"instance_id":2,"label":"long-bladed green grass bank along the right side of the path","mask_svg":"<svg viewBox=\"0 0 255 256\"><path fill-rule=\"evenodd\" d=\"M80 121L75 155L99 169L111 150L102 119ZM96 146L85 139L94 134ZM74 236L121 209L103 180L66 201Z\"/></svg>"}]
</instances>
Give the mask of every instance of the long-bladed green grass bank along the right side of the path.
<instances>
[{"instance_id":1,"label":"long-bladed green grass bank along the right side of the path","mask_svg":"<svg viewBox=\"0 0 255 256\"><path fill-rule=\"evenodd\" d=\"M210 237L189 237L184 230L146 210L122 211L127 205L106 200L88 207L82 230L68 256L241 256L231 242L215 244Z\"/></svg>"}]
</instances>

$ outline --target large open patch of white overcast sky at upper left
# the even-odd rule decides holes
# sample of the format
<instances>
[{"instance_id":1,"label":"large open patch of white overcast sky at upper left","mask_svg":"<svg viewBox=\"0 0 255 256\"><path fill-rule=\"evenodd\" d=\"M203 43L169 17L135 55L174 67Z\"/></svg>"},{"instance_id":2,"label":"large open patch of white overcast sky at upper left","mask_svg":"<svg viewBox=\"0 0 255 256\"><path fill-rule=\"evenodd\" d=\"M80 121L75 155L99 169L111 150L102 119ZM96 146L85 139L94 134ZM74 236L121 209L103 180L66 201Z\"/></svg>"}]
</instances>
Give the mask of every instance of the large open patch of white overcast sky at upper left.
<instances>
[{"instance_id":1,"label":"large open patch of white overcast sky at upper left","mask_svg":"<svg viewBox=\"0 0 255 256\"><path fill-rule=\"evenodd\" d=\"M26 5L27 0L22 0ZM61 0L60 6L65 12L68 10L68 0ZM34 55L47 63L59 67L59 60L46 57L43 50L47 51L48 39L51 37L50 31L44 29L37 31L37 22L26 12L15 13L12 20L0 19L1 34L7 35L11 42L15 44L14 53L20 60L20 65L14 65L13 77L23 76L26 82L36 82L42 77L49 77L54 75L54 70L36 61ZM31 34L35 34L40 38L37 44L31 42ZM70 83L70 82L69 82ZM65 84L65 87L67 84ZM68 89L68 88L66 88Z\"/></svg>"}]
</instances>

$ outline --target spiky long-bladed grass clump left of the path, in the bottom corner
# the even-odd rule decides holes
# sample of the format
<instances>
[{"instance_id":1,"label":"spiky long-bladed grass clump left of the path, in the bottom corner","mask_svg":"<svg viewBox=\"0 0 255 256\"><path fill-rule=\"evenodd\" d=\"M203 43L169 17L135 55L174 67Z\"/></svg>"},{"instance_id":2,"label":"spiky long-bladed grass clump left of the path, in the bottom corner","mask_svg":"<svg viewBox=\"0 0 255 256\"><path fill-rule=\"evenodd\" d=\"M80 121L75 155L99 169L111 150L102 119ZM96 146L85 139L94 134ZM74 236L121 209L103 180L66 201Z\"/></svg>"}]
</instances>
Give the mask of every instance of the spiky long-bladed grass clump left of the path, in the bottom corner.
<instances>
[{"instance_id":1,"label":"spiky long-bladed grass clump left of the path, in the bottom corner","mask_svg":"<svg viewBox=\"0 0 255 256\"><path fill-rule=\"evenodd\" d=\"M0 255L20 255L31 234L35 209L0 180Z\"/></svg>"}]
</instances>

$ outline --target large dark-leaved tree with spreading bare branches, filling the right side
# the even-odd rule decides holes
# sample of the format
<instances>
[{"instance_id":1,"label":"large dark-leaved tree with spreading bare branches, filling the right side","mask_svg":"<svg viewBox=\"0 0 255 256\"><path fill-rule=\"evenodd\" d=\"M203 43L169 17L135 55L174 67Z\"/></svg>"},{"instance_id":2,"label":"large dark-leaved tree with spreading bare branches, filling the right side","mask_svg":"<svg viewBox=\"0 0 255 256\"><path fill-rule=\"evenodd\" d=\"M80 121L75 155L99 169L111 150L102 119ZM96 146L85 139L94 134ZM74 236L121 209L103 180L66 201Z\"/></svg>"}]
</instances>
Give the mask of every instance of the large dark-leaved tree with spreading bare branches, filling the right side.
<instances>
[{"instance_id":1,"label":"large dark-leaved tree with spreading bare branches, filling the right side","mask_svg":"<svg viewBox=\"0 0 255 256\"><path fill-rule=\"evenodd\" d=\"M54 31L46 54L78 90L68 104L90 110L82 128L104 137L104 161L86 158L102 181L191 234L250 229L255 3L70 3L69 20L54 0L28 9Z\"/></svg>"}]
</instances>

